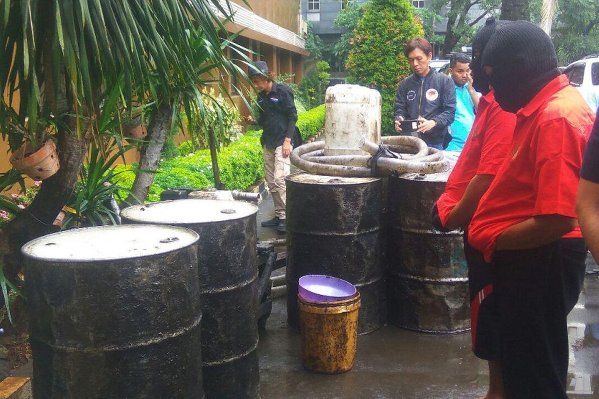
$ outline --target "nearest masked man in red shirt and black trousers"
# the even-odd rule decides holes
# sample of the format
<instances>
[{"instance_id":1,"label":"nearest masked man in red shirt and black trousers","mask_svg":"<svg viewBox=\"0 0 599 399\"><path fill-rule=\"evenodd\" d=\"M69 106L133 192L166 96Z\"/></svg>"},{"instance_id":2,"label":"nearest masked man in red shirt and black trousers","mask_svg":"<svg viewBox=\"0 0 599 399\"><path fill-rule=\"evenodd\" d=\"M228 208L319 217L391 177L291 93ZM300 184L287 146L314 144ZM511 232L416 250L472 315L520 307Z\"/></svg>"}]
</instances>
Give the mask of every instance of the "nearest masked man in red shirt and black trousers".
<instances>
[{"instance_id":1,"label":"nearest masked man in red shirt and black trousers","mask_svg":"<svg viewBox=\"0 0 599 399\"><path fill-rule=\"evenodd\" d=\"M507 158L468 228L493 261L506 398L567 399L566 316L586 258L574 203L594 114L531 23L498 28L482 63L501 108L516 113Z\"/></svg>"}]
</instances>

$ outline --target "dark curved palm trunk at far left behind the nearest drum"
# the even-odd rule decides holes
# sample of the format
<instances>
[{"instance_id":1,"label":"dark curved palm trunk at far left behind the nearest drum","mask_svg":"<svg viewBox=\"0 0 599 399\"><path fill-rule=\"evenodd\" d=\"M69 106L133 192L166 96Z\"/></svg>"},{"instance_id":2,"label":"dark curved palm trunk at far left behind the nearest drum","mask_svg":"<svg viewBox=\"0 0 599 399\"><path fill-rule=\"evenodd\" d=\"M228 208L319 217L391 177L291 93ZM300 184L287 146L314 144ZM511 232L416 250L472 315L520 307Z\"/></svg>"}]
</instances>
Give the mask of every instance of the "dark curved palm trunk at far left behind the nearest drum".
<instances>
[{"instance_id":1,"label":"dark curved palm trunk at far left behind the nearest drum","mask_svg":"<svg viewBox=\"0 0 599 399\"><path fill-rule=\"evenodd\" d=\"M72 133L77 130L74 118L69 118L68 125L58 133L60 169L44 180L29 208L0 231L0 263L9 279L22 270L21 247L25 243L60 230L52 223L71 197L89 144L86 137Z\"/></svg>"}]
</instances>

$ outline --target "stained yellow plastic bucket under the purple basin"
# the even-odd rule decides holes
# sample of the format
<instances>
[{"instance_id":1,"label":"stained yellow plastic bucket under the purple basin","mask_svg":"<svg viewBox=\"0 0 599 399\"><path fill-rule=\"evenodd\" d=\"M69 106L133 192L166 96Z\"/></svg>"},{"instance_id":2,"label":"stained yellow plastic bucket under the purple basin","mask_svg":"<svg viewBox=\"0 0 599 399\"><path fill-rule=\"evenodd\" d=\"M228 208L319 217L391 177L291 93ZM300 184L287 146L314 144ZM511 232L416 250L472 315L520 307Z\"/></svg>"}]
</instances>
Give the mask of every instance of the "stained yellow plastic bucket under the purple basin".
<instances>
[{"instance_id":1,"label":"stained yellow plastic bucket under the purple basin","mask_svg":"<svg viewBox=\"0 0 599 399\"><path fill-rule=\"evenodd\" d=\"M358 346L360 294L337 302L310 302L298 295L302 363L316 373L337 374L353 367Z\"/></svg>"}]
</instances>

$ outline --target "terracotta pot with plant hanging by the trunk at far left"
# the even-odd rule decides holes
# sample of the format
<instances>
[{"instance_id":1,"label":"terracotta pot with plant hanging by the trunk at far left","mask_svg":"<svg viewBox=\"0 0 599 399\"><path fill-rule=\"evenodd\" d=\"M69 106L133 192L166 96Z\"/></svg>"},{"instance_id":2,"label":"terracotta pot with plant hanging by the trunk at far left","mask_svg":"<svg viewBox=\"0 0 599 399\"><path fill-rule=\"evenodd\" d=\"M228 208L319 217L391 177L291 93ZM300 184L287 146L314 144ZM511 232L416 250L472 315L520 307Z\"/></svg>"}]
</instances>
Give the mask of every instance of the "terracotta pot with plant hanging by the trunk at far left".
<instances>
[{"instance_id":1,"label":"terracotta pot with plant hanging by the trunk at far left","mask_svg":"<svg viewBox=\"0 0 599 399\"><path fill-rule=\"evenodd\" d=\"M26 142L10 156L10 163L34 180L47 179L60 167L56 144L52 140L46 141L37 151L31 142Z\"/></svg>"}]
</instances>

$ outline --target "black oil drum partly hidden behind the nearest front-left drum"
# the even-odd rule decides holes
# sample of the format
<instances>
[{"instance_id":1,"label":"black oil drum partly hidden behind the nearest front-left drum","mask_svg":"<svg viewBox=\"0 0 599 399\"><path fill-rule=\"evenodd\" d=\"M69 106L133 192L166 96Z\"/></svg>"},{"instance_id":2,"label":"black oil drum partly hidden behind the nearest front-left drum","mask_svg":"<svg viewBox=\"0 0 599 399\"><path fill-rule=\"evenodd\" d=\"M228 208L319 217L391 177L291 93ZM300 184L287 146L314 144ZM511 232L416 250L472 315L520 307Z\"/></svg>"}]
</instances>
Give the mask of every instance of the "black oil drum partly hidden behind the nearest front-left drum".
<instances>
[{"instance_id":1,"label":"black oil drum partly hidden behind the nearest front-left drum","mask_svg":"<svg viewBox=\"0 0 599 399\"><path fill-rule=\"evenodd\" d=\"M199 234L207 399L259 398L256 212L247 202L182 199L132 206L123 223L187 227Z\"/></svg>"}]
</instances>

